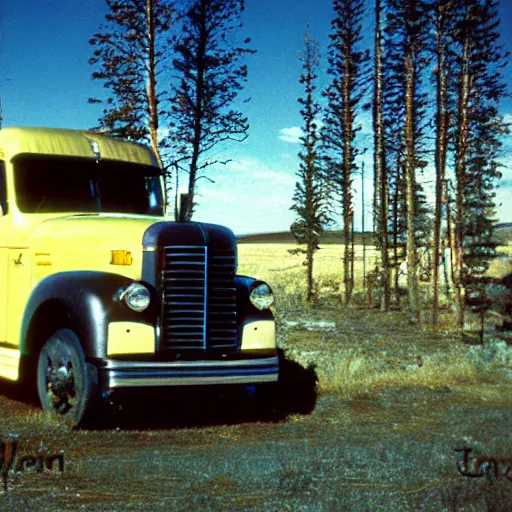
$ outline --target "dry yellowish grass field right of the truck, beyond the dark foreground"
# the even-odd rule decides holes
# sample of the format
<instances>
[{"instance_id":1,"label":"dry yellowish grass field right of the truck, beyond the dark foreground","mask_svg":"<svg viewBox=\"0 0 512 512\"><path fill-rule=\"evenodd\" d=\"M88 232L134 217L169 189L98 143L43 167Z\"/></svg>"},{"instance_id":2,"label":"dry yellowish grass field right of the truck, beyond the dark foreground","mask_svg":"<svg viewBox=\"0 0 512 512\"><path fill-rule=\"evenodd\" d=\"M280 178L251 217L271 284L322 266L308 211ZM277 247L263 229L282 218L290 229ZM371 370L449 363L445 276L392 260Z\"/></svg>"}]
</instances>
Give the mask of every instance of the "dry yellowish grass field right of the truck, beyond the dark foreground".
<instances>
[{"instance_id":1,"label":"dry yellowish grass field right of the truck, beyond the dark foreground","mask_svg":"<svg viewBox=\"0 0 512 512\"><path fill-rule=\"evenodd\" d=\"M428 283L422 286L421 325L411 322L406 306L401 311L384 313L377 300L369 307L362 281L362 246L356 246L353 305L341 305L343 249L336 245L327 245L317 253L314 275L319 299L308 305L304 258L290 255L288 250L293 247L296 246L240 245L239 273L256 276L271 285L276 294L279 343L292 359L315 368L321 392L354 397L386 386L442 387L501 381L508 375L512 352L507 352L504 342L495 336L492 320L488 322L486 340L502 351L494 356L486 356L482 347L471 349L464 343L445 297L438 328L429 325ZM501 258L491 270L512 271L512 246L502 248L500 253ZM366 247L366 256L368 271L376 263L375 249ZM378 297L378 293L375 295ZM478 318L469 313L465 327L477 330Z\"/></svg>"}]
</instances>

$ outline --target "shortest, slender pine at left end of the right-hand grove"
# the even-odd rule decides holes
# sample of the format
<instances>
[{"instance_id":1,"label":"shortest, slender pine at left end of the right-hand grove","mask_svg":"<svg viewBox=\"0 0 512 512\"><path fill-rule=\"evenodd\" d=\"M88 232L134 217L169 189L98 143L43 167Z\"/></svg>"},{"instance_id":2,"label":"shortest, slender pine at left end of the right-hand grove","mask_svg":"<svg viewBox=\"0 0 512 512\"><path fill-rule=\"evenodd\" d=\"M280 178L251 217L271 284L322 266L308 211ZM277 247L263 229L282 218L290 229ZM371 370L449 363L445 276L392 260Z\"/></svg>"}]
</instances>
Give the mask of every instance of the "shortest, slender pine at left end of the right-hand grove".
<instances>
[{"instance_id":1,"label":"shortest, slender pine at left end of the right-hand grove","mask_svg":"<svg viewBox=\"0 0 512 512\"><path fill-rule=\"evenodd\" d=\"M299 103L302 106L300 113L303 119L303 136L301 137L302 150L299 153L301 163L297 172L298 181L293 196L294 204L291 207L298 219L293 222L290 230L297 242L306 247L290 250L290 253L306 255L304 265L307 269L307 300L313 302L315 300L313 259L315 252L319 249L319 237L327 218L318 153L317 118L320 114L320 104L315 97L320 54L319 45L309 32L304 37L304 52L301 59L303 73L300 83L304 86L304 97L299 98Z\"/></svg>"}]
</instances>

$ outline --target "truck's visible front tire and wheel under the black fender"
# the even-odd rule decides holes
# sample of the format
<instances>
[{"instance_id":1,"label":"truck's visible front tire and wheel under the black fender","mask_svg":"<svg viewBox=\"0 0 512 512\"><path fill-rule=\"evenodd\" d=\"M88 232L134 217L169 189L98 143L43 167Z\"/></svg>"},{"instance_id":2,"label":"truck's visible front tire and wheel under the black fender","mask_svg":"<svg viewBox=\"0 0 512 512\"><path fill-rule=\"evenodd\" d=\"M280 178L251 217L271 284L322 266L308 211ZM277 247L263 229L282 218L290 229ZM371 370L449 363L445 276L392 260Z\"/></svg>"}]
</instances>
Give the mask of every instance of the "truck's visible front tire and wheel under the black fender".
<instances>
[{"instance_id":1,"label":"truck's visible front tire and wheel under the black fender","mask_svg":"<svg viewBox=\"0 0 512 512\"><path fill-rule=\"evenodd\" d=\"M95 416L99 406L98 371L86 363L72 330L59 329L41 349L37 392L46 415L70 427L83 427Z\"/></svg>"}]
</instances>

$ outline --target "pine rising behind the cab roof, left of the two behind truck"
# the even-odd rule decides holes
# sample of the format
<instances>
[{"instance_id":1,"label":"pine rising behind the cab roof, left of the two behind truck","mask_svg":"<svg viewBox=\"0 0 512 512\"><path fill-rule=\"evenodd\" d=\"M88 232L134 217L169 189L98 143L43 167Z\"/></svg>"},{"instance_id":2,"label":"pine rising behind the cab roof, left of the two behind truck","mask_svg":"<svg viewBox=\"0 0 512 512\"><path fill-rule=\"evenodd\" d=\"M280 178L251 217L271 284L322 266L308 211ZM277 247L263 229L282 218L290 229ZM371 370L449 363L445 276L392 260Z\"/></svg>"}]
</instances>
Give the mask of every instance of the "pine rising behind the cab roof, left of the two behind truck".
<instances>
[{"instance_id":1,"label":"pine rising behind the cab roof, left of the two behind truck","mask_svg":"<svg viewBox=\"0 0 512 512\"><path fill-rule=\"evenodd\" d=\"M161 164L158 128L166 91L158 75L174 7L166 0L107 0L107 5L106 23L90 40L95 47L89 59L96 69L92 78L110 94L106 100L89 99L105 106L96 129L150 142Z\"/></svg>"}]
</instances>

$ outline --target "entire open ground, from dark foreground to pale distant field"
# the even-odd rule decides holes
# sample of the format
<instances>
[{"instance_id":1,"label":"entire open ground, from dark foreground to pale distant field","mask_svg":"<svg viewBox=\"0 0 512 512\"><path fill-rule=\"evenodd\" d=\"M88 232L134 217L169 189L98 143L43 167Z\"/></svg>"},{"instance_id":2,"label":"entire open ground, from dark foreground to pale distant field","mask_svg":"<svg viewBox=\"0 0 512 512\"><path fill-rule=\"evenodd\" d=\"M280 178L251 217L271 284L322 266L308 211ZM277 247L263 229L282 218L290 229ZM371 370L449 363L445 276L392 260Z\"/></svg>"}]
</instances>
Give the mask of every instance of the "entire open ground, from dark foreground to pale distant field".
<instances>
[{"instance_id":1,"label":"entire open ground, from dark foreground to pale distant field","mask_svg":"<svg viewBox=\"0 0 512 512\"><path fill-rule=\"evenodd\" d=\"M492 321L480 347L464 343L449 308L433 330L406 310L368 308L361 283L342 308L334 245L318 253L320 299L309 306L290 247L239 253L239 273L277 295L281 415L240 399L144 396L95 430L68 431L0 383L0 439L15 432L23 454L42 442L66 455L62 474L8 475L0 510L510 512L508 466L464 477L455 451L512 458L512 349Z\"/></svg>"}]
</instances>

